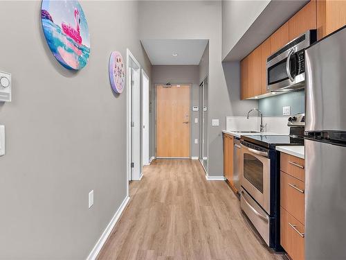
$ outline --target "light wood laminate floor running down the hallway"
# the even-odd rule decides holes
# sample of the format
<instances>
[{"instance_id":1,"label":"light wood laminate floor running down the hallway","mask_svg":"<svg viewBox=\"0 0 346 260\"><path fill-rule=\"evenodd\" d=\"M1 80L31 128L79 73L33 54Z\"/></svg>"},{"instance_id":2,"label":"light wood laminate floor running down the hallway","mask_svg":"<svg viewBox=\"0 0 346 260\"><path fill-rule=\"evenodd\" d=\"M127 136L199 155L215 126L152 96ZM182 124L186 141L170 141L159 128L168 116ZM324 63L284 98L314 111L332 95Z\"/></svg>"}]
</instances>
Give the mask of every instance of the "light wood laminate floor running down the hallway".
<instances>
[{"instance_id":1,"label":"light wood laminate floor running down the hallway","mask_svg":"<svg viewBox=\"0 0 346 260\"><path fill-rule=\"evenodd\" d=\"M269 250L223 181L197 160L156 159L130 184L131 200L98 259L283 259Z\"/></svg>"}]
</instances>

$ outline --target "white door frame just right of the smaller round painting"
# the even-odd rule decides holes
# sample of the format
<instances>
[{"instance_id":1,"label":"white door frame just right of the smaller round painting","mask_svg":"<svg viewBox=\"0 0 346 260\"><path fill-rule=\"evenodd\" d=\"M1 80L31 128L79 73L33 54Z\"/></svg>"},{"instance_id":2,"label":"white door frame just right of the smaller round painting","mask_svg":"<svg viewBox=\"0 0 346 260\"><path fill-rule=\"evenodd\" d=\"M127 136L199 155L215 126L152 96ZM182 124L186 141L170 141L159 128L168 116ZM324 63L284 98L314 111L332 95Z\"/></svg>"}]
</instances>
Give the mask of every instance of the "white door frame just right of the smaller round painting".
<instances>
[{"instance_id":1,"label":"white door frame just right of the smaller round painting","mask_svg":"<svg viewBox=\"0 0 346 260\"><path fill-rule=\"evenodd\" d=\"M136 67L140 70L140 64L138 60L134 57L134 55L131 53L129 49L126 49L126 96L127 96L127 116L126 116L126 125L127 125L127 138L126 138L126 170L127 170L127 177L126 177L126 182L127 182L127 196L129 196L129 181L130 180L136 180L132 178L131 176L131 156L132 156L132 144L131 144L131 110L132 110L132 93L131 93L131 77L129 76L129 69L131 69L131 64L130 62L134 63ZM139 83L140 84L140 83Z\"/></svg>"}]
</instances>

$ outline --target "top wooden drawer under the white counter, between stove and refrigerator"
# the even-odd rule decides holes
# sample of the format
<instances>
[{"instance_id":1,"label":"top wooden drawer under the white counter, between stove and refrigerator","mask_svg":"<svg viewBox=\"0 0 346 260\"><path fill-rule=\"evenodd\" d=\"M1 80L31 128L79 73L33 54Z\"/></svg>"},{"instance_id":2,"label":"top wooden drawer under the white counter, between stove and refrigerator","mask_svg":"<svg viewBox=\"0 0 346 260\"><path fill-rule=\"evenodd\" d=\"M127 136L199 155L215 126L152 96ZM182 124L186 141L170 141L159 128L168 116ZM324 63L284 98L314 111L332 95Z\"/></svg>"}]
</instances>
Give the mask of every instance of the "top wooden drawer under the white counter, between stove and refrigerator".
<instances>
[{"instance_id":1,"label":"top wooden drawer under the white counter, between stove and refrigerator","mask_svg":"<svg viewBox=\"0 0 346 260\"><path fill-rule=\"evenodd\" d=\"M281 153L280 170L304 182L304 159Z\"/></svg>"}]
</instances>

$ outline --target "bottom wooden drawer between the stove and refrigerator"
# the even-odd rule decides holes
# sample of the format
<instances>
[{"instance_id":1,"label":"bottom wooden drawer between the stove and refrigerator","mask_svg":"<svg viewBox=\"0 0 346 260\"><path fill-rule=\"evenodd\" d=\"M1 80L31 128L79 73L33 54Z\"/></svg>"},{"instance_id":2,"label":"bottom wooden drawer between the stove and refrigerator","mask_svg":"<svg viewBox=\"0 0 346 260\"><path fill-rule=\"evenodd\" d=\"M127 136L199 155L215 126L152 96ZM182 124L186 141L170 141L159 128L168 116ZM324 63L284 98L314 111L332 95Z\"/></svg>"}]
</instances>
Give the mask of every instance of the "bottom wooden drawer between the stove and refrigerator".
<instances>
[{"instance_id":1,"label":"bottom wooden drawer between the stove and refrigerator","mask_svg":"<svg viewBox=\"0 0 346 260\"><path fill-rule=\"evenodd\" d=\"M304 225L280 208L280 242L293 260L304 259Z\"/></svg>"}]
</instances>

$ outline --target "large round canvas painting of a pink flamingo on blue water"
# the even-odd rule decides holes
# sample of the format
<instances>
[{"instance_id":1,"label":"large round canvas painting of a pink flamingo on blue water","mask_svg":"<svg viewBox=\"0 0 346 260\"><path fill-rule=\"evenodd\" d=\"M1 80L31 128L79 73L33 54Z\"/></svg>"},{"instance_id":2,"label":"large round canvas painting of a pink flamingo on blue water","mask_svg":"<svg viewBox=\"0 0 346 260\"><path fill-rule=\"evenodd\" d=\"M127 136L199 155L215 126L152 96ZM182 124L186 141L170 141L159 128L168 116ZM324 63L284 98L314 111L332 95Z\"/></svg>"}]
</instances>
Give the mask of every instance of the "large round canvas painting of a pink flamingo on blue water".
<instances>
[{"instance_id":1,"label":"large round canvas painting of a pink flamingo on blue water","mask_svg":"<svg viewBox=\"0 0 346 260\"><path fill-rule=\"evenodd\" d=\"M66 69L82 69L89 60L89 28L76 0L42 0L44 36L58 62Z\"/></svg>"}]
</instances>

